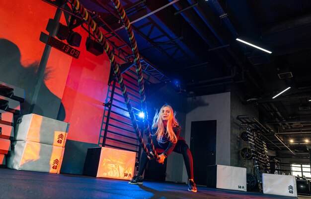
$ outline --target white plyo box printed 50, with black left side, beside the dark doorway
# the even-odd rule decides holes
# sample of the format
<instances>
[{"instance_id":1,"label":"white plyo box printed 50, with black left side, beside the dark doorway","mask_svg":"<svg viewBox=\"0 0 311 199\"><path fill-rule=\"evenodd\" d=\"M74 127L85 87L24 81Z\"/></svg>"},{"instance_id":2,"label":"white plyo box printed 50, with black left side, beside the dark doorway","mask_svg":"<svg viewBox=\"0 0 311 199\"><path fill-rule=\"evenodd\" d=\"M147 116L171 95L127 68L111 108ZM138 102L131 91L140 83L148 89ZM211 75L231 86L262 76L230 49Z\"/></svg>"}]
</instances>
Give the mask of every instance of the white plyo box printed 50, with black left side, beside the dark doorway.
<instances>
[{"instance_id":1,"label":"white plyo box printed 50, with black left side, beside the dark doorway","mask_svg":"<svg viewBox=\"0 0 311 199\"><path fill-rule=\"evenodd\" d=\"M207 187L246 192L246 168L207 166Z\"/></svg>"}]
</instances>

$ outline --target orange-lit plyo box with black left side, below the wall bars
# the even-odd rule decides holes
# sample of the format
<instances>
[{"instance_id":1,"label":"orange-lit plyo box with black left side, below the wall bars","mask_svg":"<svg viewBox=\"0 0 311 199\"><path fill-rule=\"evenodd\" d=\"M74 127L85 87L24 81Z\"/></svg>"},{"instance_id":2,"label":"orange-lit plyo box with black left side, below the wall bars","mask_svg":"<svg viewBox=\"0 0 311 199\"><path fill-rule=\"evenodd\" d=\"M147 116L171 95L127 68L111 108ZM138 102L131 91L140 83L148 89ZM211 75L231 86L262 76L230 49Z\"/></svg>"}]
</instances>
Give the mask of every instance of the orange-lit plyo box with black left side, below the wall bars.
<instances>
[{"instance_id":1,"label":"orange-lit plyo box with black left side, below the wall bars","mask_svg":"<svg viewBox=\"0 0 311 199\"><path fill-rule=\"evenodd\" d=\"M107 147L88 148L83 175L131 180L136 152Z\"/></svg>"}]
</instances>

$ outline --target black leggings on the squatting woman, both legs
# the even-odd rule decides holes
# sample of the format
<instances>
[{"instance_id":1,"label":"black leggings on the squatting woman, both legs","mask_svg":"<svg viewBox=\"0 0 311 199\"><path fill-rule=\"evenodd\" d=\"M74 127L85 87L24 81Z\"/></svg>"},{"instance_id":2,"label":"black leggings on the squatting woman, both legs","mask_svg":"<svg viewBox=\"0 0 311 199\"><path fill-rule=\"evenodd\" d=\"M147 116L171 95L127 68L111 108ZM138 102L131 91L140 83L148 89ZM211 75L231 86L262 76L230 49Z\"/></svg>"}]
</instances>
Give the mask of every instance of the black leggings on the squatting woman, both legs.
<instances>
[{"instance_id":1,"label":"black leggings on the squatting woman, both legs","mask_svg":"<svg viewBox=\"0 0 311 199\"><path fill-rule=\"evenodd\" d=\"M164 150L166 149L166 147L164 148L158 144L158 142L156 141L156 136L152 136L152 137L153 137L153 143L156 149L157 148L164 149ZM187 169L188 178L193 179L193 160L192 160L190 149L188 145L186 144L186 142L184 140L178 140L173 151L176 153L182 154L184 158L185 166ZM146 169L148 160L149 159L147 157L147 154L144 151L142 151L141 161L139 163L138 175L141 175L141 176L143 175Z\"/></svg>"}]
</instances>

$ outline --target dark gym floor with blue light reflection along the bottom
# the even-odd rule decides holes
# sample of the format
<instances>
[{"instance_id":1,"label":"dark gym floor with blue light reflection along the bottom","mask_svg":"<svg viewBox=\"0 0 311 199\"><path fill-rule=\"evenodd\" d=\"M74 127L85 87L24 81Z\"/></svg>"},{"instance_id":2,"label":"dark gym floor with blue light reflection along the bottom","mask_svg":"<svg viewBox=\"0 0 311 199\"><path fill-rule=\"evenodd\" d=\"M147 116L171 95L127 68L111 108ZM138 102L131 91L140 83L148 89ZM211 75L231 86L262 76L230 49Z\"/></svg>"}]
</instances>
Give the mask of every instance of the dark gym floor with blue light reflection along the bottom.
<instances>
[{"instance_id":1,"label":"dark gym floor with blue light reflection along the bottom","mask_svg":"<svg viewBox=\"0 0 311 199\"><path fill-rule=\"evenodd\" d=\"M138 186L121 180L11 169L0 169L0 182L0 199L295 199L203 186L192 193L186 184L144 181Z\"/></svg>"}]
</instances>

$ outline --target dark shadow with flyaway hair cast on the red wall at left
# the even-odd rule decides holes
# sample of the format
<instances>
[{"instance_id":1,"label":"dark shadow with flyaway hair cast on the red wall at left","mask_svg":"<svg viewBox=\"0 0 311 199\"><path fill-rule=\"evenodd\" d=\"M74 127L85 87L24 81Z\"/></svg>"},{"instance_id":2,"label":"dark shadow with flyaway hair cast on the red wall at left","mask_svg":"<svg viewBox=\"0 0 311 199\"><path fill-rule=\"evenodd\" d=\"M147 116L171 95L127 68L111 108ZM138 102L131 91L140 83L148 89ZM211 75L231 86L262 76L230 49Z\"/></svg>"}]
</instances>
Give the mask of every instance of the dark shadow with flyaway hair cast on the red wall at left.
<instances>
[{"instance_id":1,"label":"dark shadow with flyaway hair cast on the red wall at left","mask_svg":"<svg viewBox=\"0 0 311 199\"><path fill-rule=\"evenodd\" d=\"M23 115L31 113L31 101L38 81L39 61L23 66L20 59L21 54L18 46L7 39L0 39L0 81L25 90L25 102L21 103L21 114ZM51 73L52 71L46 70L44 79L47 80ZM45 95L45 98L51 101L60 100L50 92L44 83L41 85L39 95ZM35 113L44 116L43 108L36 107ZM57 119L64 121L65 116L65 108L61 103Z\"/></svg>"}]
</instances>

